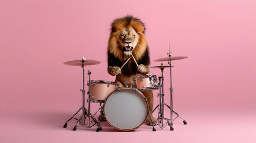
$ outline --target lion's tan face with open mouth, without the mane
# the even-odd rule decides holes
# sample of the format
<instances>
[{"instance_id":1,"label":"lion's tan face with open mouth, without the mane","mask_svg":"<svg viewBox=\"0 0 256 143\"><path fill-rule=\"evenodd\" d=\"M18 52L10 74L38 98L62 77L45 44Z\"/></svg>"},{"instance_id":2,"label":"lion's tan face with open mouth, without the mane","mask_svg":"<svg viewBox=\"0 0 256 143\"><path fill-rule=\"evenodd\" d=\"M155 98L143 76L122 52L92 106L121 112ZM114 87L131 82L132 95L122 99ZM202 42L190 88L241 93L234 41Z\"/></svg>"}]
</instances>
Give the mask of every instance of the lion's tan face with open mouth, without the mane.
<instances>
[{"instance_id":1,"label":"lion's tan face with open mouth, without the mane","mask_svg":"<svg viewBox=\"0 0 256 143\"><path fill-rule=\"evenodd\" d=\"M139 39L138 33L132 27L121 30L119 44L125 55L131 55L131 52L137 46Z\"/></svg>"}]
</instances>

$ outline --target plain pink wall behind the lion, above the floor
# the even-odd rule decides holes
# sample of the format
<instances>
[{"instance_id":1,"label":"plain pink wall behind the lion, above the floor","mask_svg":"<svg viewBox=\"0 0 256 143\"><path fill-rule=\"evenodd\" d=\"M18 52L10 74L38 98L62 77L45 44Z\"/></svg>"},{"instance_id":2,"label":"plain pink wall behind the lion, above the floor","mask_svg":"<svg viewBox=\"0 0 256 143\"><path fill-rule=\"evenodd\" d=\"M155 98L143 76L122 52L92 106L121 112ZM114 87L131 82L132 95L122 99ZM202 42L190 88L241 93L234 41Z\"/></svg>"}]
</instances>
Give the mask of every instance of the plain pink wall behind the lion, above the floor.
<instances>
[{"instance_id":1,"label":"plain pink wall behind the lion, above the floor","mask_svg":"<svg viewBox=\"0 0 256 143\"><path fill-rule=\"evenodd\" d=\"M86 67L91 79L114 80L106 62L110 23L127 14L146 24L152 66L167 57L168 43L173 56L189 57L172 62L175 108L255 110L255 7L249 0L1 0L0 111L79 107L82 69L63 63L98 60Z\"/></svg>"}]
</instances>

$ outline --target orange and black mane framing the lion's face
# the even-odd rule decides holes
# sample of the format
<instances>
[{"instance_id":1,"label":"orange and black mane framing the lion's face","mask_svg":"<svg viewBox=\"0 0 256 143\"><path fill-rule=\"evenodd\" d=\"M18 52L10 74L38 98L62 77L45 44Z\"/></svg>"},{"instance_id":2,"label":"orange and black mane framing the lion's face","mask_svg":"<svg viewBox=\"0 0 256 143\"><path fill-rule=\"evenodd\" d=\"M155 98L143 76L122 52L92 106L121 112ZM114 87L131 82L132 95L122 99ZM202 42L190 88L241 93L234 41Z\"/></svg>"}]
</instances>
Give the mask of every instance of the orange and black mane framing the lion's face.
<instances>
[{"instance_id":1,"label":"orange and black mane framing the lion's face","mask_svg":"<svg viewBox=\"0 0 256 143\"><path fill-rule=\"evenodd\" d=\"M141 20L138 18L127 15L126 17L117 18L114 20L111 26L110 37L107 46L108 66L121 67L130 57L129 55L124 54L123 48L121 46L121 42L123 41L121 36L123 29L128 29L129 32L129 29L131 28L134 29L138 35L136 36L137 44L135 47L133 47L132 55L134 55L138 65L149 65L149 47L144 35L146 30L144 23L141 22ZM129 60L127 65L125 65L122 69L122 73L125 76L131 76L136 72L137 66L134 60Z\"/></svg>"}]
</instances>

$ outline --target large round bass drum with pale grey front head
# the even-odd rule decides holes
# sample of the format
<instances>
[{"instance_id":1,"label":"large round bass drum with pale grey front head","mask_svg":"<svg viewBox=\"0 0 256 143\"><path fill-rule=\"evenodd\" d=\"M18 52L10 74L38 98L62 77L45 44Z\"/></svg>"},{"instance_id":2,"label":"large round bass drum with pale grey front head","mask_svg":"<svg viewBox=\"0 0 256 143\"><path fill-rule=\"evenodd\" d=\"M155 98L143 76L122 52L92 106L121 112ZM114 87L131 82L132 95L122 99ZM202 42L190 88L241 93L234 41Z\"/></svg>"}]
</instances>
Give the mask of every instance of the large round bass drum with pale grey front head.
<instances>
[{"instance_id":1,"label":"large round bass drum with pale grey front head","mask_svg":"<svg viewBox=\"0 0 256 143\"><path fill-rule=\"evenodd\" d=\"M116 89L104 102L106 120L118 130L138 129L146 120L147 111L146 98L135 88Z\"/></svg>"}]
</instances>

